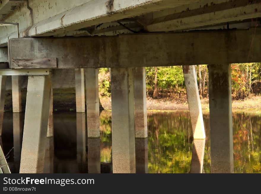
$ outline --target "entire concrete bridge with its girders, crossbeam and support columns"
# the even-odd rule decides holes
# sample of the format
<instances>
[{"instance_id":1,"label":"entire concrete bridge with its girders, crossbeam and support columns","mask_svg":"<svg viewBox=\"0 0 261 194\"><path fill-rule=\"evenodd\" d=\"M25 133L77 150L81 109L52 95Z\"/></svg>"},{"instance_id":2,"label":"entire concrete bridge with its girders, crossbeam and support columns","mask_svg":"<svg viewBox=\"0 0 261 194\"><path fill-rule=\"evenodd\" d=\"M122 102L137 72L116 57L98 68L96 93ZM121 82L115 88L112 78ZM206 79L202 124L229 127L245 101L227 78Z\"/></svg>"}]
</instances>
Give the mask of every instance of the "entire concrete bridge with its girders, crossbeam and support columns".
<instances>
[{"instance_id":1,"label":"entire concrete bridge with its girders, crossbeam and support columns","mask_svg":"<svg viewBox=\"0 0 261 194\"><path fill-rule=\"evenodd\" d=\"M86 96L88 138L99 138L98 68L109 67L113 172L135 173L135 136L147 138L144 67L173 65L183 65L196 157L191 172L202 172L206 136L195 64L209 68L211 172L233 172L230 64L261 62L260 21L260 0L2 0L1 114L6 76L12 75L13 111L20 112L19 78L28 75L20 172L44 169L52 71L75 69L77 115Z\"/></svg>"}]
</instances>

